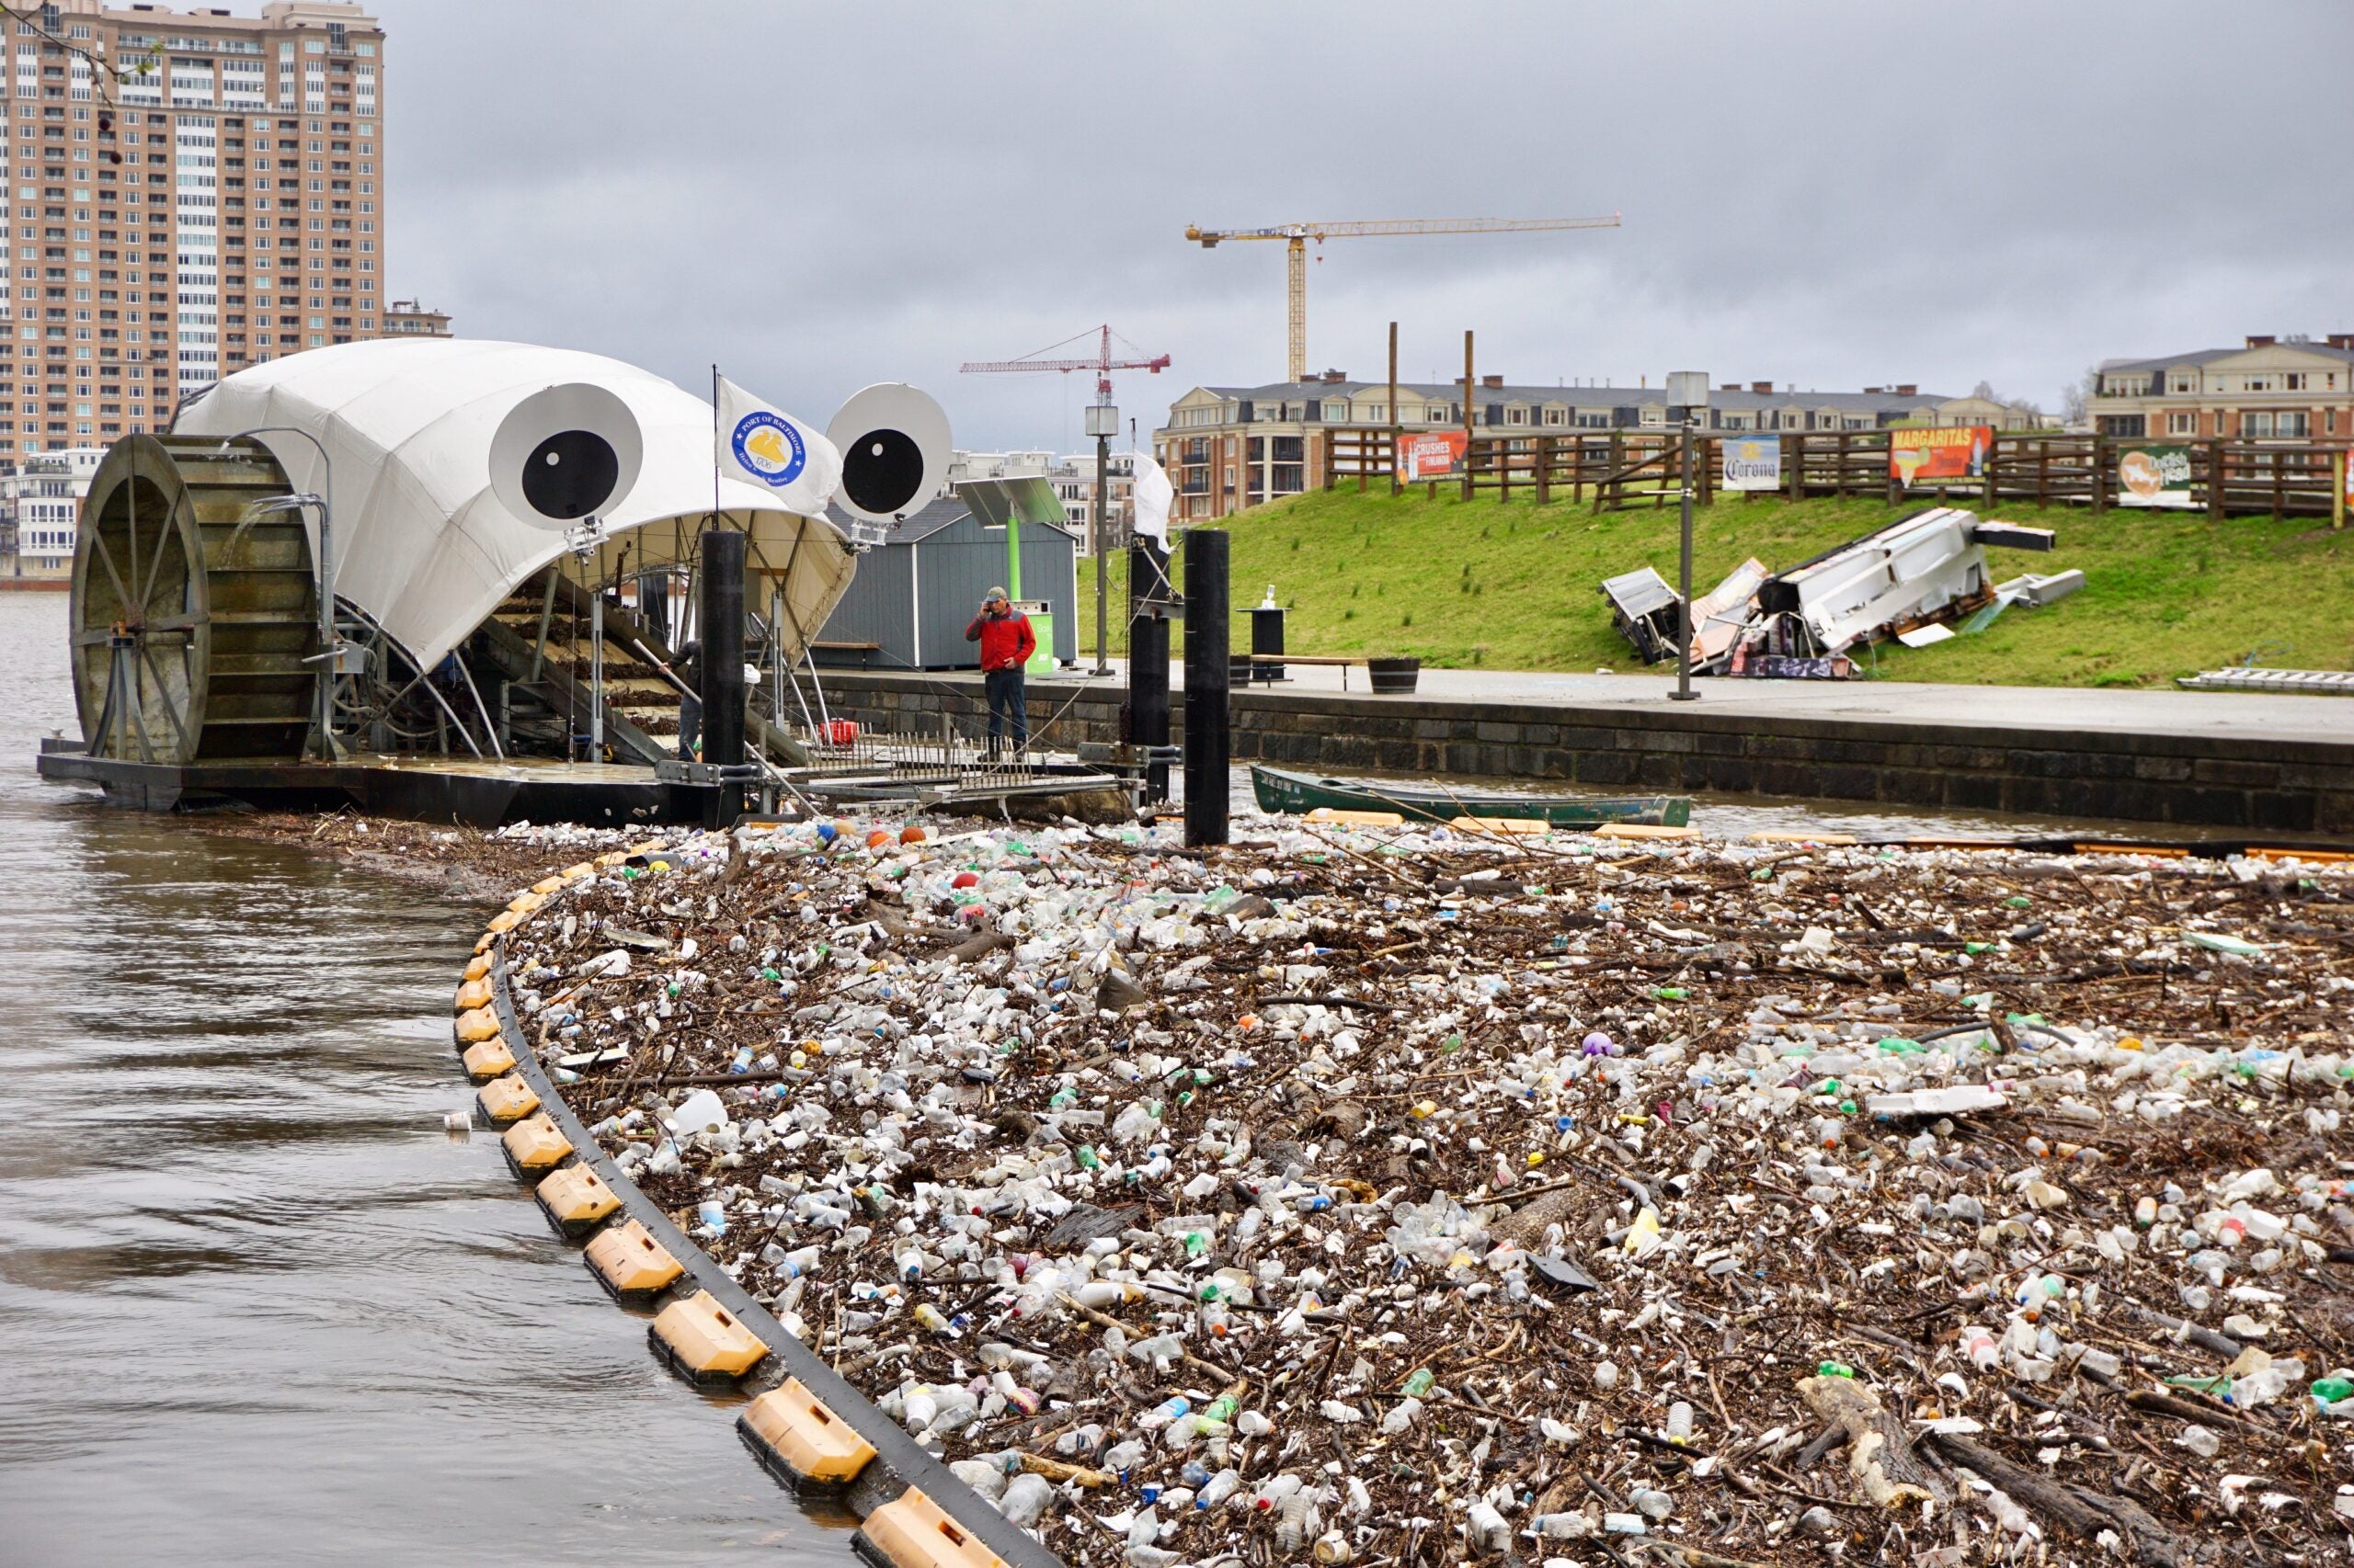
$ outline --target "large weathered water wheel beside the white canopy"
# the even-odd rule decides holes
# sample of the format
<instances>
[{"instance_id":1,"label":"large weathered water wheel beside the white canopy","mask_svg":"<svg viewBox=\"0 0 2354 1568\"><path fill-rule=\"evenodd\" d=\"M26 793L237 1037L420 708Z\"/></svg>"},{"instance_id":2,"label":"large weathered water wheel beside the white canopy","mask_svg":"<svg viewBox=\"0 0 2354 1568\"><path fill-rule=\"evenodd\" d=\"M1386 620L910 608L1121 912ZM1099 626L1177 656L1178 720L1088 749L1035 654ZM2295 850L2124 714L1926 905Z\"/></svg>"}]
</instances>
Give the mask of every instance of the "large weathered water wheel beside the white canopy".
<instances>
[{"instance_id":1,"label":"large weathered water wheel beside the white canopy","mask_svg":"<svg viewBox=\"0 0 2354 1568\"><path fill-rule=\"evenodd\" d=\"M259 440L127 436L73 549L73 702L92 756L294 760L318 702L318 577Z\"/></svg>"}]
</instances>

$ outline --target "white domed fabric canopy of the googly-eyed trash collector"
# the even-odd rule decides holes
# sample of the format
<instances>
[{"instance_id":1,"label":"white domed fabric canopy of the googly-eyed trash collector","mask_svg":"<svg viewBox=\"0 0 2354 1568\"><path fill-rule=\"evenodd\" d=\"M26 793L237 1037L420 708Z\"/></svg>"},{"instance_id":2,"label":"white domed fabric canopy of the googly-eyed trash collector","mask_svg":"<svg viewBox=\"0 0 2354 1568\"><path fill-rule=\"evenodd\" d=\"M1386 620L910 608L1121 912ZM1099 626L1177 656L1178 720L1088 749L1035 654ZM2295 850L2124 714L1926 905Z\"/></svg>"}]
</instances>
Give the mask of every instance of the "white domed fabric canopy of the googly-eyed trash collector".
<instances>
[{"instance_id":1,"label":"white domed fabric canopy of the googly-eyed trash collector","mask_svg":"<svg viewBox=\"0 0 2354 1568\"><path fill-rule=\"evenodd\" d=\"M273 431L257 440L297 490L327 497L337 598L428 669L567 553L565 523L520 516L499 499L490 471L501 421L551 386L612 393L643 443L636 483L598 509L605 539L596 574L692 563L716 501L727 525L751 537L751 570L784 586L786 657L798 655L850 586L857 556L824 518L782 511L763 487L716 480L711 405L636 365L473 339L341 344L240 370L186 405L172 428L238 436L292 426L315 436L334 459L332 490L301 436ZM523 450L544 436L556 431L532 436ZM746 584L749 610L765 612L767 600L767 586Z\"/></svg>"}]
</instances>

